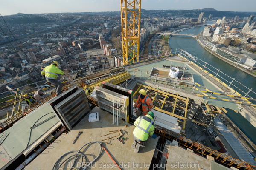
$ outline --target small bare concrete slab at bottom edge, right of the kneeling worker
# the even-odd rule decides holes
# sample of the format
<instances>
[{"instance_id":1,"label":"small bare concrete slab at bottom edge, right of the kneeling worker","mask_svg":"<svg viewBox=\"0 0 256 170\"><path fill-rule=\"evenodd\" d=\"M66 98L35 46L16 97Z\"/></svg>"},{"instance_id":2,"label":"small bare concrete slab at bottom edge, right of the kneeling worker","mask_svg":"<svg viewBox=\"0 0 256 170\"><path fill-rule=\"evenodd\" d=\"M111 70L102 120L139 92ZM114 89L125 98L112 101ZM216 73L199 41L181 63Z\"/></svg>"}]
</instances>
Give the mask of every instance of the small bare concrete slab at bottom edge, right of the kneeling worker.
<instances>
[{"instance_id":1,"label":"small bare concrete slab at bottom edge, right of the kneeling worker","mask_svg":"<svg viewBox=\"0 0 256 170\"><path fill-rule=\"evenodd\" d=\"M230 170L214 161L210 161L186 149L171 144L166 170Z\"/></svg>"}]
</instances>

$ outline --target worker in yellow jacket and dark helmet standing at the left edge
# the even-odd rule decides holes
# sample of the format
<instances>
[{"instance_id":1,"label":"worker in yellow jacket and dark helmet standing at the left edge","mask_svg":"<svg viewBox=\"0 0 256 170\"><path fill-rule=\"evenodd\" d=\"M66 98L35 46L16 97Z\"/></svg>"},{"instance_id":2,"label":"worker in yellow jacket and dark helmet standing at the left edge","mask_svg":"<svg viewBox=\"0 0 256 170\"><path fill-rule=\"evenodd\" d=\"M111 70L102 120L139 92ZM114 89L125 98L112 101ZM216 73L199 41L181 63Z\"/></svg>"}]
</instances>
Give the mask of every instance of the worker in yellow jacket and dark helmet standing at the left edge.
<instances>
[{"instance_id":1,"label":"worker in yellow jacket and dark helmet standing at the left edge","mask_svg":"<svg viewBox=\"0 0 256 170\"><path fill-rule=\"evenodd\" d=\"M58 62L52 62L51 65L44 68L41 74L47 82L52 83L54 85L54 87L56 88L56 96L60 95L62 84L56 79L58 74L64 75L65 73L58 69Z\"/></svg>"}]
</instances>

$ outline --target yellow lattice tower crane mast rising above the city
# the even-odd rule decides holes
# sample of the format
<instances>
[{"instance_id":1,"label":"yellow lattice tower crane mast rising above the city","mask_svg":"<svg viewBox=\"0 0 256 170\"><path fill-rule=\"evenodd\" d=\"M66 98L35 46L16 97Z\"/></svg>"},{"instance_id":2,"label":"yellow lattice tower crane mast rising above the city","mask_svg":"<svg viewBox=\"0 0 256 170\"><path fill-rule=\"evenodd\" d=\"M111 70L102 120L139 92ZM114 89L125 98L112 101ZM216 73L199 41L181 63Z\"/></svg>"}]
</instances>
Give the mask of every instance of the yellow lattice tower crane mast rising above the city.
<instances>
[{"instance_id":1,"label":"yellow lattice tower crane mast rising above the city","mask_svg":"<svg viewBox=\"0 0 256 170\"><path fill-rule=\"evenodd\" d=\"M141 0L121 0L123 64L139 61Z\"/></svg>"}]
</instances>

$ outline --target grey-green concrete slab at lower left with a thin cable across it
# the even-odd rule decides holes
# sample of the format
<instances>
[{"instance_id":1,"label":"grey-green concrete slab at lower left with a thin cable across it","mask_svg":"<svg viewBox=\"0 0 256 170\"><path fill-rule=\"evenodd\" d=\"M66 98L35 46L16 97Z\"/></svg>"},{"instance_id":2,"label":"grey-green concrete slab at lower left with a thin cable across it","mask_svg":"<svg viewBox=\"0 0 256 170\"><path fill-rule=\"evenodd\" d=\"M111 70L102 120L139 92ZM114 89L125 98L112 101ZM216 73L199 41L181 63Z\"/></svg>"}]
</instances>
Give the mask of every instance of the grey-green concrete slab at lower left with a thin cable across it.
<instances>
[{"instance_id":1,"label":"grey-green concrete slab at lower left with a thin cable across it","mask_svg":"<svg viewBox=\"0 0 256 170\"><path fill-rule=\"evenodd\" d=\"M50 113L50 114L42 117L38 121L38 123L54 116L55 113L52 113L52 112L53 110L52 108L49 107L49 105L43 105L40 108L35 109L33 112L29 113L23 119L20 119L18 122L15 123L14 126L10 127L4 132L4 136L7 135L8 133L9 135L3 141L3 143L1 144L1 147L3 147L3 149L6 151L6 154L8 154L8 157L11 160L7 159L7 161L2 161L2 163L0 164L1 166L0 168L2 168L4 165L6 166L6 164L10 164L18 156L23 154L24 150L26 150L26 146L28 142L29 142L29 147L34 146L34 144L37 143L36 141L38 139L40 140L41 137L44 136L44 134L47 133L47 131L49 131L49 129L51 129L56 124L58 124L59 120L55 116L52 119L49 119L46 122L42 123L41 125L34 127L31 133L30 141L29 141L29 135L31 130L30 127L32 127L33 124L41 116L44 116L47 113ZM0 142L2 142L2 140L4 139L3 137L0 139ZM3 151L3 150L0 150L0 151ZM6 154L0 154L0 159L1 160L6 159Z\"/></svg>"}]
</instances>

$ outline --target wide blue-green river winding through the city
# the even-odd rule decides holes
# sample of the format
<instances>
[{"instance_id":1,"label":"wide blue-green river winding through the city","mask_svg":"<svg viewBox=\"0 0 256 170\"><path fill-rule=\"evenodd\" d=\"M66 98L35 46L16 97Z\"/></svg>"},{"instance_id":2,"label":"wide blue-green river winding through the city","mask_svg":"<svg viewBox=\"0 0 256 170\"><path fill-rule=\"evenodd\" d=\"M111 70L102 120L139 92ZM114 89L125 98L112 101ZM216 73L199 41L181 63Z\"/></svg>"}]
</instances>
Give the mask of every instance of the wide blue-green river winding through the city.
<instances>
[{"instance_id":1,"label":"wide blue-green river winding through the city","mask_svg":"<svg viewBox=\"0 0 256 170\"><path fill-rule=\"evenodd\" d=\"M212 23L209 23L212 24ZM185 31L179 32L180 34L199 34L201 31L204 30L204 26L202 27L196 27L192 29L188 29ZM235 78L239 83L234 82L234 85L236 85L239 89L247 93L249 90L247 88L252 88L253 91L256 91L256 77L253 77L244 71L239 70L238 68L233 67L232 65L227 64L226 62L222 61L221 59L218 59L214 55L210 54L208 51L206 51L201 45L198 44L197 40L193 37L188 36L172 36L169 39L169 46L172 48L172 51L175 51L176 49L183 49L192 54L195 57L198 57L198 59L203 60L204 62L209 63L213 67L219 69L223 73L229 75L232 78ZM204 64L201 62L201 64ZM202 66L201 66L202 67ZM210 68L213 69L213 68ZM215 75L215 74L214 74ZM221 75L221 77L224 77L224 75ZM218 76L217 76L218 77ZM221 79L220 77L218 77ZM221 79L222 80L222 79ZM228 81L232 81L231 78L227 78ZM224 81L224 80L222 80ZM225 81L224 81L225 82ZM225 82L227 84L227 82ZM229 84L228 84L229 85ZM245 88L243 85L246 85L247 88ZM230 86L234 90L238 91L241 95L245 95L242 91L239 91L238 88L235 88L234 86ZM249 93L249 96L252 98L256 98L256 94L253 92ZM248 97L248 96L247 96ZM243 133L254 143L256 144L256 128L251 125L240 113L236 113L233 110L227 109L227 116L239 127L240 130L243 131Z\"/></svg>"}]
</instances>

